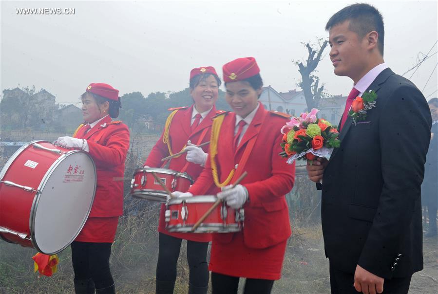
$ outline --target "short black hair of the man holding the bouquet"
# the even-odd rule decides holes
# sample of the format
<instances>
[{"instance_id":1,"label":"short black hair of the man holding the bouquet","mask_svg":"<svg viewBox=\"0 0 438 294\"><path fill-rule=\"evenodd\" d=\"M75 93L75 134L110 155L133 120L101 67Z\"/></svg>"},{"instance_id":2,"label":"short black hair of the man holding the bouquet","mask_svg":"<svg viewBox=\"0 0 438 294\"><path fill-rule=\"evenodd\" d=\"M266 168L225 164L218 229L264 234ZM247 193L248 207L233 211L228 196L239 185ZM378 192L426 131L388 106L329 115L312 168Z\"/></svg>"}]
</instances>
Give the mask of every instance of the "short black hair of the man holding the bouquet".
<instances>
[{"instance_id":1,"label":"short black hair of the man holding the bouquet","mask_svg":"<svg viewBox=\"0 0 438 294\"><path fill-rule=\"evenodd\" d=\"M369 32L376 31L379 34L377 45L380 54L383 56L385 28L383 25L383 17L379 10L365 3L356 3L344 7L327 21L325 30L329 31L332 27L346 20L350 20L348 29L358 34L361 39Z\"/></svg>"}]
</instances>

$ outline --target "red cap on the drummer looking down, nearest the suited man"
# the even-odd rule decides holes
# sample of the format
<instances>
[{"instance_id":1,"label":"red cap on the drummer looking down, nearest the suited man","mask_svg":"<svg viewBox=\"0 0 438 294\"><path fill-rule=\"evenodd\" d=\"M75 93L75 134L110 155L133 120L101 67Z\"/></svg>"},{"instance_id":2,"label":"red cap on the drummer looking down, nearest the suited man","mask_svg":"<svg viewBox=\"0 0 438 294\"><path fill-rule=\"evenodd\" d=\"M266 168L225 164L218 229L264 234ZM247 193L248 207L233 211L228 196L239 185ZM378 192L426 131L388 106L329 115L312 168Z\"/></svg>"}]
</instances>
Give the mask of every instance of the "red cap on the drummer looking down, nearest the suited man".
<instances>
[{"instance_id":1,"label":"red cap on the drummer looking down, nearest the suited man","mask_svg":"<svg viewBox=\"0 0 438 294\"><path fill-rule=\"evenodd\" d=\"M237 82L260 73L254 57L237 58L222 67L224 81Z\"/></svg>"}]
</instances>

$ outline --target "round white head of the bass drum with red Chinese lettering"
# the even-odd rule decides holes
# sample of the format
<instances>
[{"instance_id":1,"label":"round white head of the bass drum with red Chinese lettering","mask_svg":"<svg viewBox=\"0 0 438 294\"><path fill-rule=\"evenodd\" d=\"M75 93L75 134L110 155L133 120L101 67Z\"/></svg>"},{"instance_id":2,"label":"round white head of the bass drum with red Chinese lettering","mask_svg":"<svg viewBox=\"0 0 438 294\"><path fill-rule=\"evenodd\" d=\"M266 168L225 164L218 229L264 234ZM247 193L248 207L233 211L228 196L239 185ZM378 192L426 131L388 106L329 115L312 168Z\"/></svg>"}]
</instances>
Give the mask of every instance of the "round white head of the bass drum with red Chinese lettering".
<instances>
[{"instance_id":1,"label":"round white head of the bass drum with red Chinese lettering","mask_svg":"<svg viewBox=\"0 0 438 294\"><path fill-rule=\"evenodd\" d=\"M96 190L91 157L70 151L47 171L32 205L30 228L35 248L56 254L69 246L85 224Z\"/></svg>"}]
</instances>

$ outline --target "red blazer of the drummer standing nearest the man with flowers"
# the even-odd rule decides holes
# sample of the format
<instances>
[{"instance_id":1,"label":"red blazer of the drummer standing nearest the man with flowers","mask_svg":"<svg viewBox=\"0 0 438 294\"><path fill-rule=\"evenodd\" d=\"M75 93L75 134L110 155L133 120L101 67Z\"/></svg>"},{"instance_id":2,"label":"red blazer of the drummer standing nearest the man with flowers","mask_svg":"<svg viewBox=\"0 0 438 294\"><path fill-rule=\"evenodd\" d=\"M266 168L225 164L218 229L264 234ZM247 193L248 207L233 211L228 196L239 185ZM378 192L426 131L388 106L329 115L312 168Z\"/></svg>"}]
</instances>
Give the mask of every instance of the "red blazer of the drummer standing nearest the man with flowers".
<instances>
[{"instance_id":1,"label":"red blazer of the drummer standing nearest the man with flowers","mask_svg":"<svg viewBox=\"0 0 438 294\"><path fill-rule=\"evenodd\" d=\"M219 181L223 183L229 172L239 163L248 141L256 137L255 145L249 154L242 171L248 176L241 182L247 189L249 199L244 204L244 240L250 248L267 248L285 241L291 234L289 214L285 199L294 184L295 165L286 164L286 159L278 155L281 150L282 134L280 129L288 119L284 114L269 112L259 103L251 124L242 138L237 150L233 150L236 115L226 114L220 129L218 154L215 157ZM234 176L234 180L238 175ZM234 181L232 180L230 184ZM206 168L189 191L194 195L219 189L213 183L210 158ZM214 234L213 241L229 242L230 234Z\"/></svg>"}]
</instances>

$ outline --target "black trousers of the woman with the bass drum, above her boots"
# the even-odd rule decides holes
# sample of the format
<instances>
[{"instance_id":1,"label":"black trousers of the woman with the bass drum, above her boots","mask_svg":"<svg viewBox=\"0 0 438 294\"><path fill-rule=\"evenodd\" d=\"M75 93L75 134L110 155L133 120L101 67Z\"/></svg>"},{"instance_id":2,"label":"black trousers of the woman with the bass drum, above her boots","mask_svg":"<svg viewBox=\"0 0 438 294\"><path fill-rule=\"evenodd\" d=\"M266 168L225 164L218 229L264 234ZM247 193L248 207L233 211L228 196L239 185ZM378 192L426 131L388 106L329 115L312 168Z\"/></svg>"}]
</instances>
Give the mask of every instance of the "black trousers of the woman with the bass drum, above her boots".
<instances>
[{"instance_id":1,"label":"black trousers of the woman with the bass drum, above her boots","mask_svg":"<svg viewBox=\"0 0 438 294\"><path fill-rule=\"evenodd\" d=\"M110 271L112 243L93 243L73 241L72 263L75 280L93 279L96 289L114 284Z\"/></svg>"}]
</instances>

